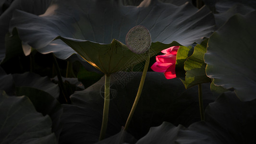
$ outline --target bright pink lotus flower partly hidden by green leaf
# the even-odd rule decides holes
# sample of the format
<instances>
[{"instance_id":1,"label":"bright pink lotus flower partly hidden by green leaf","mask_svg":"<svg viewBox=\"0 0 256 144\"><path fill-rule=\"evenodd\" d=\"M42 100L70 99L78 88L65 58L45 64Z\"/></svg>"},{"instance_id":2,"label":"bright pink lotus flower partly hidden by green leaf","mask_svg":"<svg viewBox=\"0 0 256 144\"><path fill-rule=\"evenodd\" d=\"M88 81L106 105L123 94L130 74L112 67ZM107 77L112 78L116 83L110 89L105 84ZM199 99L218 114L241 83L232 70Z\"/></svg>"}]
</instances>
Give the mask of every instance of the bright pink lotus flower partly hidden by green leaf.
<instances>
[{"instance_id":1,"label":"bright pink lotus flower partly hidden by green leaf","mask_svg":"<svg viewBox=\"0 0 256 144\"><path fill-rule=\"evenodd\" d=\"M162 50L161 52L165 53L165 55L156 56L157 62L151 66L151 69L155 72L164 72L164 76L167 79L175 78L176 55L179 48L179 46L174 46Z\"/></svg>"}]
</instances>

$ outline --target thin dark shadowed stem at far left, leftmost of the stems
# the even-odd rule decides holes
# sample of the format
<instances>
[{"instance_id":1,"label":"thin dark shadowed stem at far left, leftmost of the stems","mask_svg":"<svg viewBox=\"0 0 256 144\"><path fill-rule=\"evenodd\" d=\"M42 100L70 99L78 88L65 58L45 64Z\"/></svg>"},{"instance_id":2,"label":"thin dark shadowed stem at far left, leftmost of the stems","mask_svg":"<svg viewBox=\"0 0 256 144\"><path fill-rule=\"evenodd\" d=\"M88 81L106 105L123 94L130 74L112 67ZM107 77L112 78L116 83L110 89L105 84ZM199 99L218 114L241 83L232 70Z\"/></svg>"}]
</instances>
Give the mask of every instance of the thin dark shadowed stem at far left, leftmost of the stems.
<instances>
[{"instance_id":1,"label":"thin dark shadowed stem at far left, leftmost of the stems","mask_svg":"<svg viewBox=\"0 0 256 144\"><path fill-rule=\"evenodd\" d=\"M52 54L53 56L53 64L55 66L55 70L56 70L56 73L57 73L57 77L58 77L58 80L59 80L59 86L61 88L61 93L63 94L64 98L65 98L65 101L66 103L70 104L71 103L71 100L69 98L68 93L64 87L64 84L63 84L63 81L62 81L62 78L61 78L61 71L60 71L60 67L59 67L59 64L55 58L55 56Z\"/></svg>"}]
</instances>

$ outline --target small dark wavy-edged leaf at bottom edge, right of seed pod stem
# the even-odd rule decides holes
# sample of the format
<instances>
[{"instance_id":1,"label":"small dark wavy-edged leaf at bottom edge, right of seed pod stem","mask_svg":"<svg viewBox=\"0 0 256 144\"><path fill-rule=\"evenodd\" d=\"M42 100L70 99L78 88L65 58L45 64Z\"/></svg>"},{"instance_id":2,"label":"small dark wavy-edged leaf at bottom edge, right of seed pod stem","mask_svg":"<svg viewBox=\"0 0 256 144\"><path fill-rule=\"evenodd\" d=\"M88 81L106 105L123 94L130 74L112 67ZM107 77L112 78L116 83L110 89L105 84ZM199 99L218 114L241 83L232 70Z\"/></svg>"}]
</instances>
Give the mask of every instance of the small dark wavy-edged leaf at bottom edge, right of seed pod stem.
<instances>
[{"instance_id":1,"label":"small dark wavy-edged leaf at bottom edge, right of seed pod stem","mask_svg":"<svg viewBox=\"0 0 256 144\"><path fill-rule=\"evenodd\" d=\"M178 132L184 130L182 125L177 127L168 122L163 122L158 127L151 127L149 132L136 144L175 144Z\"/></svg>"}]
</instances>

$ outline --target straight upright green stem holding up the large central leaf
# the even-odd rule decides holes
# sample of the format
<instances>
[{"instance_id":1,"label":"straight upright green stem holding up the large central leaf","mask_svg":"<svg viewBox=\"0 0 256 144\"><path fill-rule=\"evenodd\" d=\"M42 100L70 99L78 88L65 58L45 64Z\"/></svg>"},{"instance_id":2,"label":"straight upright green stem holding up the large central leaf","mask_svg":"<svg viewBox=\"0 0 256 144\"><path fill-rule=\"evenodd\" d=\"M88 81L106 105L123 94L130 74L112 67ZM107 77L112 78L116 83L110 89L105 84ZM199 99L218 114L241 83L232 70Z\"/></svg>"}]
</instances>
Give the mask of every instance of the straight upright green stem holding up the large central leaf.
<instances>
[{"instance_id":1,"label":"straight upright green stem holding up the large central leaf","mask_svg":"<svg viewBox=\"0 0 256 144\"><path fill-rule=\"evenodd\" d=\"M104 93L104 108L101 130L99 134L99 141L105 138L109 120L109 107L110 107L110 75L105 74L105 93Z\"/></svg>"}]
</instances>

